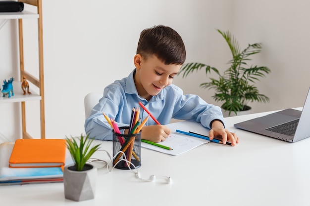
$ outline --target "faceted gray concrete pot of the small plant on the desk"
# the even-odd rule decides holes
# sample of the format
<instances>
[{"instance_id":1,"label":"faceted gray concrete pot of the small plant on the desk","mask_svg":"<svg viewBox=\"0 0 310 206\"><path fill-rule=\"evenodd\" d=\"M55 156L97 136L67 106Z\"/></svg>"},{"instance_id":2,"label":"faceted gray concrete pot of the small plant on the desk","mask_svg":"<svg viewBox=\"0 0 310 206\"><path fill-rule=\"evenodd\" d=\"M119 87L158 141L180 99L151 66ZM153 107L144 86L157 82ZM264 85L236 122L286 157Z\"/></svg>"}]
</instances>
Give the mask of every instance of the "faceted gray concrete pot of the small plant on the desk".
<instances>
[{"instance_id":1,"label":"faceted gray concrete pot of the small plant on the desk","mask_svg":"<svg viewBox=\"0 0 310 206\"><path fill-rule=\"evenodd\" d=\"M64 197L74 201L95 198L97 168L86 164L84 171L76 171L74 165L67 165L63 170Z\"/></svg>"}]
</instances>

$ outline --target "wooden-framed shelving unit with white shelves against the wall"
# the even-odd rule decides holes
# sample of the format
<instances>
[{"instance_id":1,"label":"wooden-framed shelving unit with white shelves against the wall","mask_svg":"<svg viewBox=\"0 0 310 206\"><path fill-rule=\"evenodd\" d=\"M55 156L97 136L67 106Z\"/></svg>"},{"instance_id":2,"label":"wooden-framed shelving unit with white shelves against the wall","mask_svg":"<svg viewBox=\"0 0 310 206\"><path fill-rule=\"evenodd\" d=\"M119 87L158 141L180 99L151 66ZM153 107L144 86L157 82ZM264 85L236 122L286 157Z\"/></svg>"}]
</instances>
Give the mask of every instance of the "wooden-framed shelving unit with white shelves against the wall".
<instances>
[{"instance_id":1,"label":"wooden-framed shelving unit with white shelves against the wall","mask_svg":"<svg viewBox=\"0 0 310 206\"><path fill-rule=\"evenodd\" d=\"M0 103L21 103L21 126L22 138L32 138L26 130L26 108L27 101L40 101L40 123L41 123L41 138L45 138L45 109L44 109L44 70L43 70L43 30L42 30L42 0L18 0L37 7L37 13L23 10L22 12L0 12L0 19L4 19L0 24L0 29L9 19L18 19L18 38L19 38L19 60L20 60L20 79L13 81L14 96L2 97L0 93ZM23 19L37 19L38 20L38 60L39 60L39 78L34 77L24 68L24 38L23 38ZM21 89L21 80L23 76L27 77L27 81L34 84L39 89L39 93L30 90L32 94L23 95ZM8 81L8 79L7 79Z\"/></svg>"}]
</instances>

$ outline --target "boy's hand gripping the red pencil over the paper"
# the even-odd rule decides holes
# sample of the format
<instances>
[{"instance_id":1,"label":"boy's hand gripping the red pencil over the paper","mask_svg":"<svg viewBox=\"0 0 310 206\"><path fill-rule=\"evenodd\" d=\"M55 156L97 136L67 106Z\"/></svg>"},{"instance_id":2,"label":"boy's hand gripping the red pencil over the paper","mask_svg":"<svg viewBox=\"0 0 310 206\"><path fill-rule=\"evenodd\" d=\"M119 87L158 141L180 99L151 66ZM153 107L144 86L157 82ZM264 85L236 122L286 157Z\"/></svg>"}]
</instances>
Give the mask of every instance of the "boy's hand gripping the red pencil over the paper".
<instances>
[{"instance_id":1,"label":"boy's hand gripping the red pencil over the paper","mask_svg":"<svg viewBox=\"0 0 310 206\"><path fill-rule=\"evenodd\" d=\"M144 126L141 130L141 139L150 140L152 142L164 141L170 136L171 130L165 125Z\"/></svg>"}]
</instances>

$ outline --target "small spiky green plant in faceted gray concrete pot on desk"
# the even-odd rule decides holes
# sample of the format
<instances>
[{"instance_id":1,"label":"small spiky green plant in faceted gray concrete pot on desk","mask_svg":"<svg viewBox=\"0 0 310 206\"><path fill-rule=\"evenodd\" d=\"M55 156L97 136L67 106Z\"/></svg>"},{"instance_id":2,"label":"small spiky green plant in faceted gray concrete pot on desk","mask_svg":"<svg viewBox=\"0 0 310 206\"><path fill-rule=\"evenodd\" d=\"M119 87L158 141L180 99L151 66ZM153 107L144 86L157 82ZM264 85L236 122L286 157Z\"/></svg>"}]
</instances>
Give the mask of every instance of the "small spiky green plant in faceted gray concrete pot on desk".
<instances>
[{"instance_id":1,"label":"small spiky green plant in faceted gray concrete pot on desk","mask_svg":"<svg viewBox=\"0 0 310 206\"><path fill-rule=\"evenodd\" d=\"M63 184L66 199L84 201L95 198L97 168L87 164L90 157L100 148L100 144L92 145L93 138L89 134L76 141L66 137L66 146L74 161L73 165L64 167Z\"/></svg>"}]
</instances>

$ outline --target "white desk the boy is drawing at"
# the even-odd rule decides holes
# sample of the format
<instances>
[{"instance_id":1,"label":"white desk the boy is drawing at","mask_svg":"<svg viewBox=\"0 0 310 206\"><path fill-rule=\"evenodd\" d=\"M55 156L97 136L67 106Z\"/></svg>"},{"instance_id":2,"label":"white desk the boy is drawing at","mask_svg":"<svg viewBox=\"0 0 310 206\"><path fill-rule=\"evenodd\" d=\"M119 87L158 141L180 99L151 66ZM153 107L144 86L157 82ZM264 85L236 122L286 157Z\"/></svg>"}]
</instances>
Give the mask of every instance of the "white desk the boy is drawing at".
<instances>
[{"instance_id":1,"label":"white desk the boy is drawing at","mask_svg":"<svg viewBox=\"0 0 310 206\"><path fill-rule=\"evenodd\" d=\"M94 200L64 199L63 183L0 187L1 206L309 206L310 138L295 143L233 127L266 113L226 118L237 131L236 147L207 143L179 156L141 150L143 182L129 170L98 171ZM102 148L112 154L112 142ZM97 157L108 160L103 152ZM165 184L160 175L171 176Z\"/></svg>"}]
</instances>

